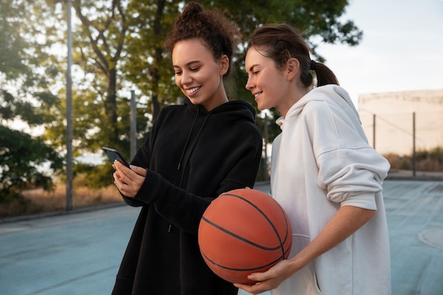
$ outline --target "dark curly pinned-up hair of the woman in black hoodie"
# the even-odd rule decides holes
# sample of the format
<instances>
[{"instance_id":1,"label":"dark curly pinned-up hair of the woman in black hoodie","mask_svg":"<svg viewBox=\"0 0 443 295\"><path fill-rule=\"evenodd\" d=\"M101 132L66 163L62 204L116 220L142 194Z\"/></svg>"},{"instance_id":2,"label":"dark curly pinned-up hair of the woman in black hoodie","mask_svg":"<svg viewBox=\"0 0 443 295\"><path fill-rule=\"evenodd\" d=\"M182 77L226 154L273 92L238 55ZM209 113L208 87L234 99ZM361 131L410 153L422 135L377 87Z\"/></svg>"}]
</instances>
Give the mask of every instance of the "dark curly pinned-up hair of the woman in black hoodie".
<instances>
[{"instance_id":1,"label":"dark curly pinned-up hair of the woman in black hoodie","mask_svg":"<svg viewBox=\"0 0 443 295\"><path fill-rule=\"evenodd\" d=\"M226 77L231 72L237 36L236 26L222 12L205 11L202 4L190 2L176 18L173 30L166 37L165 46L171 53L179 41L194 38L202 40L214 59L219 59L223 54L229 58L229 69L224 75Z\"/></svg>"}]
</instances>

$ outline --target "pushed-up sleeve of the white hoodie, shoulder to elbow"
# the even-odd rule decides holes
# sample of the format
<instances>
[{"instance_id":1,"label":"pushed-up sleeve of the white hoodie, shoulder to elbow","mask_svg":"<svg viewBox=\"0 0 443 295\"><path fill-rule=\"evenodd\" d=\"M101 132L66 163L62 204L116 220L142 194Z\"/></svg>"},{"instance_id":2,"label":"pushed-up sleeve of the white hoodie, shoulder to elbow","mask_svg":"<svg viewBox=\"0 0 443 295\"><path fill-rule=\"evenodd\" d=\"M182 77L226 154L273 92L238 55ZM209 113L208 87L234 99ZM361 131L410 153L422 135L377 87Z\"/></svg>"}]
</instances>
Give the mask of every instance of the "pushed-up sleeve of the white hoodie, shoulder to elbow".
<instances>
[{"instance_id":1,"label":"pushed-up sleeve of the white hoodie, shoulder to elbow","mask_svg":"<svg viewBox=\"0 0 443 295\"><path fill-rule=\"evenodd\" d=\"M340 98L338 98L340 99ZM318 166L318 185L340 206L376 209L375 193L389 162L367 143L358 117L347 104L311 102L305 117Z\"/></svg>"}]
</instances>

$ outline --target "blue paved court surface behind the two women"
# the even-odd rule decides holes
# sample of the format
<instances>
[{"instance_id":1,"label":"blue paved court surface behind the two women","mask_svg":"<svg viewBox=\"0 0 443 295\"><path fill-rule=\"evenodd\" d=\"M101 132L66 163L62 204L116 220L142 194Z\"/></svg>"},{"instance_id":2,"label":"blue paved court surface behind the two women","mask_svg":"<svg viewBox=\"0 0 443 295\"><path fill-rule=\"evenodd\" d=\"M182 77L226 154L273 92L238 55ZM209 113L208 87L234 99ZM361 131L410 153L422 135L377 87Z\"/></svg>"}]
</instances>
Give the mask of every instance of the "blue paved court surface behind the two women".
<instances>
[{"instance_id":1,"label":"blue paved court surface behind the two women","mask_svg":"<svg viewBox=\"0 0 443 295\"><path fill-rule=\"evenodd\" d=\"M392 294L442 295L443 181L387 180L384 190ZM0 294L110 294L138 212L115 206L3 220Z\"/></svg>"}]
</instances>

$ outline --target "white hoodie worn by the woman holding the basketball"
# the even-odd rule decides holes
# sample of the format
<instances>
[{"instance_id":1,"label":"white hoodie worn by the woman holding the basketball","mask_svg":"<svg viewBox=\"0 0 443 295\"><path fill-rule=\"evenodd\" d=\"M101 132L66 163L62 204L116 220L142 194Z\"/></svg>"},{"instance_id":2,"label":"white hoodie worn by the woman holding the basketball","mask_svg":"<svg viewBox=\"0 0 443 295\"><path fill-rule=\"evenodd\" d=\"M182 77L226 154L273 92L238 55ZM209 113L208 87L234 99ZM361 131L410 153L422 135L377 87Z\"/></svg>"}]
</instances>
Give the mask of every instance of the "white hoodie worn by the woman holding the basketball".
<instances>
[{"instance_id":1,"label":"white hoodie worn by the woman holding the basketball","mask_svg":"<svg viewBox=\"0 0 443 295\"><path fill-rule=\"evenodd\" d=\"M272 294L391 294L389 236L382 183L389 162L367 142L347 92L321 86L277 120L271 192L289 215L294 256L345 205L376 209L345 241L283 282Z\"/></svg>"}]
</instances>

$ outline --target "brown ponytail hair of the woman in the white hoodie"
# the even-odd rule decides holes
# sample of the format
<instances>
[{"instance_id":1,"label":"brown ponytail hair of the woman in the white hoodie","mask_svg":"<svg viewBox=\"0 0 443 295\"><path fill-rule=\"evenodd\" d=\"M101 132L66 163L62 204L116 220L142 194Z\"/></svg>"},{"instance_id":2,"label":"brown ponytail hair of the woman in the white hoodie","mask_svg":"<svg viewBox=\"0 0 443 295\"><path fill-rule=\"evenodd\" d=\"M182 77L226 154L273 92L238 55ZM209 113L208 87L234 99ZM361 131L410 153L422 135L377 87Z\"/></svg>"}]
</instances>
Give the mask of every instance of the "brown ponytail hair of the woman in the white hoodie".
<instances>
[{"instance_id":1,"label":"brown ponytail hair of the woman in the white hoodie","mask_svg":"<svg viewBox=\"0 0 443 295\"><path fill-rule=\"evenodd\" d=\"M279 68L290 58L297 59L300 63L300 80L306 88L309 88L313 81L311 70L316 72L317 86L338 85L338 79L326 64L311 61L306 41L290 25L269 24L256 28L249 38L247 50L252 47L264 57L274 60Z\"/></svg>"}]
</instances>

